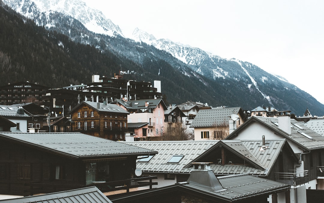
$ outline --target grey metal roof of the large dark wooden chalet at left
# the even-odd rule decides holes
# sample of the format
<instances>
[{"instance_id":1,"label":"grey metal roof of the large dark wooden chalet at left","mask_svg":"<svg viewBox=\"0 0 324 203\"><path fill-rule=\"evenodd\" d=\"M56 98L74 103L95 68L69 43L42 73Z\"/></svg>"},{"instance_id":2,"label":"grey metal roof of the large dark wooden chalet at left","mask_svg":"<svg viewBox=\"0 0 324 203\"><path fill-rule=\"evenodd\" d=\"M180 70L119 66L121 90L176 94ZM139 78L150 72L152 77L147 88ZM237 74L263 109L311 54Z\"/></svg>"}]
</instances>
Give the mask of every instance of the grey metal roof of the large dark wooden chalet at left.
<instances>
[{"instance_id":1,"label":"grey metal roof of the large dark wooden chalet at left","mask_svg":"<svg viewBox=\"0 0 324 203\"><path fill-rule=\"evenodd\" d=\"M156 151L130 146L78 132L65 133L20 133L0 132L0 139L7 138L24 144L55 152L72 158L105 158L127 155L149 155Z\"/></svg>"}]
</instances>

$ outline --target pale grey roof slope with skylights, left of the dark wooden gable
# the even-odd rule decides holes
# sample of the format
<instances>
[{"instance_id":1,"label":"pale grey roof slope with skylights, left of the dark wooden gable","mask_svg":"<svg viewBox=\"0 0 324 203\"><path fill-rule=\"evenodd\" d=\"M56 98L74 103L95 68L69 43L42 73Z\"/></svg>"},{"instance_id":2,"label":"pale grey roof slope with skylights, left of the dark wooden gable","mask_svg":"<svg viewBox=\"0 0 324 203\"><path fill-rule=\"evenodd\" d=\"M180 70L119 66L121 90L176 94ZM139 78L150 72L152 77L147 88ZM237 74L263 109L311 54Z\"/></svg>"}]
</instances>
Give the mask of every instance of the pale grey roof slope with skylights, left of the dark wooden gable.
<instances>
[{"instance_id":1,"label":"pale grey roof slope with skylights, left of the dark wooden gable","mask_svg":"<svg viewBox=\"0 0 324 203\"><path fill-rule=\"evenodd\" d=\"M216 144L217 140L204 141L135 141L126 142L137 147L157 151L149 162L137 160L136 167L143 172L154 173L189 173L191 168L184 166ZM184 155L179 163L168 163L173 155Z\"/></svg>"}]
</instances>

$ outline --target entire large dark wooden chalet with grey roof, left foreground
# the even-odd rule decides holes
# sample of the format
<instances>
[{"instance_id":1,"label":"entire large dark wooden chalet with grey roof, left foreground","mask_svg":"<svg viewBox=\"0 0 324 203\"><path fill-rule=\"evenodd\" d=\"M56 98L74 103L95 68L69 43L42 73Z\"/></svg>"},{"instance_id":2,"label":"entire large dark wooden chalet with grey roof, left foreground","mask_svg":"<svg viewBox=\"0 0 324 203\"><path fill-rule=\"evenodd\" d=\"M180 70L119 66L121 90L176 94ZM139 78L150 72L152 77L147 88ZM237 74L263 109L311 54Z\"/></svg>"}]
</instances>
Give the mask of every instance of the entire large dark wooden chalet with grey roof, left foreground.
<instances>
[{"instance_id":1,"label":"entire large dark wooden chalet with grey roof, left foreground","mask_svg":"<svg viewBox=\"0 0 324 203\"><path fill-rule=\"evenodd\" d=\"M137 156L156 153L76 132L0 132L0 193L26 196L87 186L102 192L129 190L143 185L131 186L131 181L145 179L130 179Z\"/></svg>"}]
</instances>

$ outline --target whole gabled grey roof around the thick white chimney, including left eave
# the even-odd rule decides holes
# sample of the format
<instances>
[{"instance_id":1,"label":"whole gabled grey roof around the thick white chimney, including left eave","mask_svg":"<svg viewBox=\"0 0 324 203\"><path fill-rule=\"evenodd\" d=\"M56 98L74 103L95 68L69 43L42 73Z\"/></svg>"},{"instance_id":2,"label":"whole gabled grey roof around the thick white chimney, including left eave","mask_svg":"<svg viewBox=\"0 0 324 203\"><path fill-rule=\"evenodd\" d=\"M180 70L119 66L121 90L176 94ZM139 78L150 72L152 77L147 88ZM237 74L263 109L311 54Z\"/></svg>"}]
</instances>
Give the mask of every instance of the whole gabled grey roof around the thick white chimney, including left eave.
<instances>
[{"instance_id":1,"label":"whole gabled grey roof around the thick white chimney, including left eave","mask_svg":"<svg viewBox=\"0 0 324 203\"><path fill-rule=\"evenodd\" d=\"M274 123L278 122L278 118L270 118L270 117L260 117L260 116L252 116L247 121L245 121L240 127L237 128L233 133L228 135L226 140L230 140L241 130L245 129L251 122L259 122L262 125L265 125L268 129L273 130L276 134L281 135L283 138L288 141L292 141L304 150L314 150L314 149L323 149L324 148L324 137L315 131L309 129L307 126L298 122L295 119L290 119L291 122L291 134L284 132L283 130L279 130L278 126ZM303 129L297 128L294 124L301 126ZM304 132L308 136L311 136L313 139L308 139L304 135L299 132ZM261 133L261 132L258 132Z\"/></svg>"}]
</instances>

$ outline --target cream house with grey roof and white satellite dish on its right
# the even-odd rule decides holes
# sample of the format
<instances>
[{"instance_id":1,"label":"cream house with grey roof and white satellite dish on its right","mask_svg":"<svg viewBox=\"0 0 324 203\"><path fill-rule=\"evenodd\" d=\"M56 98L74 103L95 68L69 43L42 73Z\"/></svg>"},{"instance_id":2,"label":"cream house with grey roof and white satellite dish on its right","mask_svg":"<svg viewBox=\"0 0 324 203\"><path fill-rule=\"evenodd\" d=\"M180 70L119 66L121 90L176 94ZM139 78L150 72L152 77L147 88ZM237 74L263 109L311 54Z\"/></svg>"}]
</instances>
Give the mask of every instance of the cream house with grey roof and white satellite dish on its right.
<instances>
[{"instance_id":1,"label":"cream house with grey roof and white satellite dish on its right","mask_svg":"<svg viewBox=\"0 0 324 203\"><path fill-rule=\"evenodd\" d=\"M195 140L222 140L244 121L245 115L240 107L216 107L199 110L189 127L194 128Z\"/></svg>"}]
</instances>

